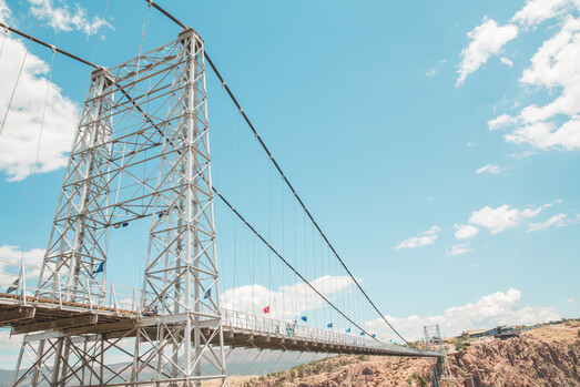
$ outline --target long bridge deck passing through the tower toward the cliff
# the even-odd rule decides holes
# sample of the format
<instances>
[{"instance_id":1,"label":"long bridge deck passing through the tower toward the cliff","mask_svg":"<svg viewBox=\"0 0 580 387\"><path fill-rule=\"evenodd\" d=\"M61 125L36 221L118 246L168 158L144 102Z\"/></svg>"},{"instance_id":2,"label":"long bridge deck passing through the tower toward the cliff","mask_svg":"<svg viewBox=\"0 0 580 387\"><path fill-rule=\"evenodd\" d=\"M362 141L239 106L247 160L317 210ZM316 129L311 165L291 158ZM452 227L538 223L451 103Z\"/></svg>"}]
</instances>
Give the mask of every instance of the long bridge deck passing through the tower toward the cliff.
<instances>
[{"instance_id":1,"label":"long bridge deck passing through the tower toward the cliff","mask_svg":"<svg viewBox=\"0 0 580 387\"><path fill-rule=\"evenodd\" d=\"M60 303L34 299L0 293L0 326L12 327L13 334L33 334L54 337L61 334L102 334L108 337L131 337L135 327L155 326L160 320L167 325L177 320L179 315L141 316L130 309L109 306L87 306L75 303ZM439 353L420 350L400 345L389 345L366 336L355 336L325 329L317 329L288 322L245 313L222 312L224 344L232 347L283 349L329 354L364 354L385 356L438 357ZM201 324L207 336L215 324ZM215 343L217 344L217 343Z\"/></svg>"}]
</instances>

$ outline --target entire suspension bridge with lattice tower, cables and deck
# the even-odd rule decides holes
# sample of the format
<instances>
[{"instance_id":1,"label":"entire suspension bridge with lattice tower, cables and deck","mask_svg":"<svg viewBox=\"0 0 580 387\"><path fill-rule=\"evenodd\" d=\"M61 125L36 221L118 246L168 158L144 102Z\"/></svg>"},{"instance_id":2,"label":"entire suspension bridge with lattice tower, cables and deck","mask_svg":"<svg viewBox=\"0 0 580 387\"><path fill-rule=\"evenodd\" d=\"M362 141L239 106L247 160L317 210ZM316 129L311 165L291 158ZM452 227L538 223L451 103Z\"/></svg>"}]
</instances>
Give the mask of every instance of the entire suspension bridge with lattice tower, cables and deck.
<instances>
[{"instance_id":1,"label":"entire suspension bridge with lattice tower, cables and deck","mask_svg":"<svg viewBox=\"0 0 580 387\"><path fill-rule=\"evenodd\" d=\"M0 26L92 68L42 265L2 264L0 324L23 335L12 385L225 385L227 348L237 347L441 359L441 352L411 347L364 292L201 35L147 3L181 32L111 68ZM206 64L251 129L254 163L261 150L268 165L267 177L254 173L254 207L245 213L238 183L228 201L212 177ZM234 157L233 164L243 162ZM272 185L272 175L286 194L273 200L268 187L262 201L256 182ZM267 227L256 215L258 202L269 207ZM282 223L273 224L276 205ZM226 216L235 226L220 233ZM138 241L146 246L138 254L145 262L142 287L108 282L114 258L131 255L114 254L122 243L115 245L112 234L144 222L147 242ZM240 252L241 240L251 253ZM224 278L232 286L221 292ZM365 324L369 319L375 324Z\"/></svg>"}]
</instances>

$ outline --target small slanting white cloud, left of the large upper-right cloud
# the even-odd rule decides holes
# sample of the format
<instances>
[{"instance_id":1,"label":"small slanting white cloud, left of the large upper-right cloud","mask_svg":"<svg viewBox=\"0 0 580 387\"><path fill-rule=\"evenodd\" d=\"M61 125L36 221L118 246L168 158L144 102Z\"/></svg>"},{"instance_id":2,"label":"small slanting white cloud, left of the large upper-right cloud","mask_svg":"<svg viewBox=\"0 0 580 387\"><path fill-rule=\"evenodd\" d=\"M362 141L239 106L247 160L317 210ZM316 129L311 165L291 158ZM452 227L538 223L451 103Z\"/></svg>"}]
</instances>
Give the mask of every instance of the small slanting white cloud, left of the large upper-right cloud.
<instances>
[{"instance_id":1,"label":"small slanting white cloud, left of the large upper-right cloud","mask_svg":"<svg viewBox=\"0 0 580 387\"><path fill-rule=\"evenodd\" d=\"M471 42L461 51L456 85L462 84L468 74L479 69L491 55L498 54L503 45L517 35L516 26L500 27L495 20L484 18L481 24L467 34Z\"/></svg>"}]
</instances>

